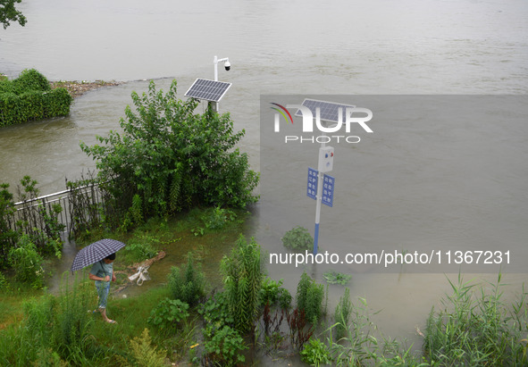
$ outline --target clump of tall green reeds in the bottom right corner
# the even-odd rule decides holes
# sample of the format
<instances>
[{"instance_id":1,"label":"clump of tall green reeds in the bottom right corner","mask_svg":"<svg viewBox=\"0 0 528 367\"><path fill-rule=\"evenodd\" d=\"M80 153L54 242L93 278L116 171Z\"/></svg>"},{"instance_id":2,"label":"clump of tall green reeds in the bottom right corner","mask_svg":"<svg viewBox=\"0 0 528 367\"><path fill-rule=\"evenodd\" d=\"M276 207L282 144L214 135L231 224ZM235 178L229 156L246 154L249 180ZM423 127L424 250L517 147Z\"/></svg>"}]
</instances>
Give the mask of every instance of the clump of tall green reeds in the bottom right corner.
<instances>
[{"instance_id":1,"label":"clump of tall green reeds in the bottom right corner","mask_svg":"<svg viewBox=\"0 0 528 367\"><path fill-rule=\"evenodd\" d=\"M427 320L423 350L431 363L440 365L526 365L528 360L520 340L526 337L528 316L522 298L507 307L502 300L500 284L491 291L474 284L449 283L453 293L443 299L445 308L434 308Z\"/></svg>"}]
</instances>

